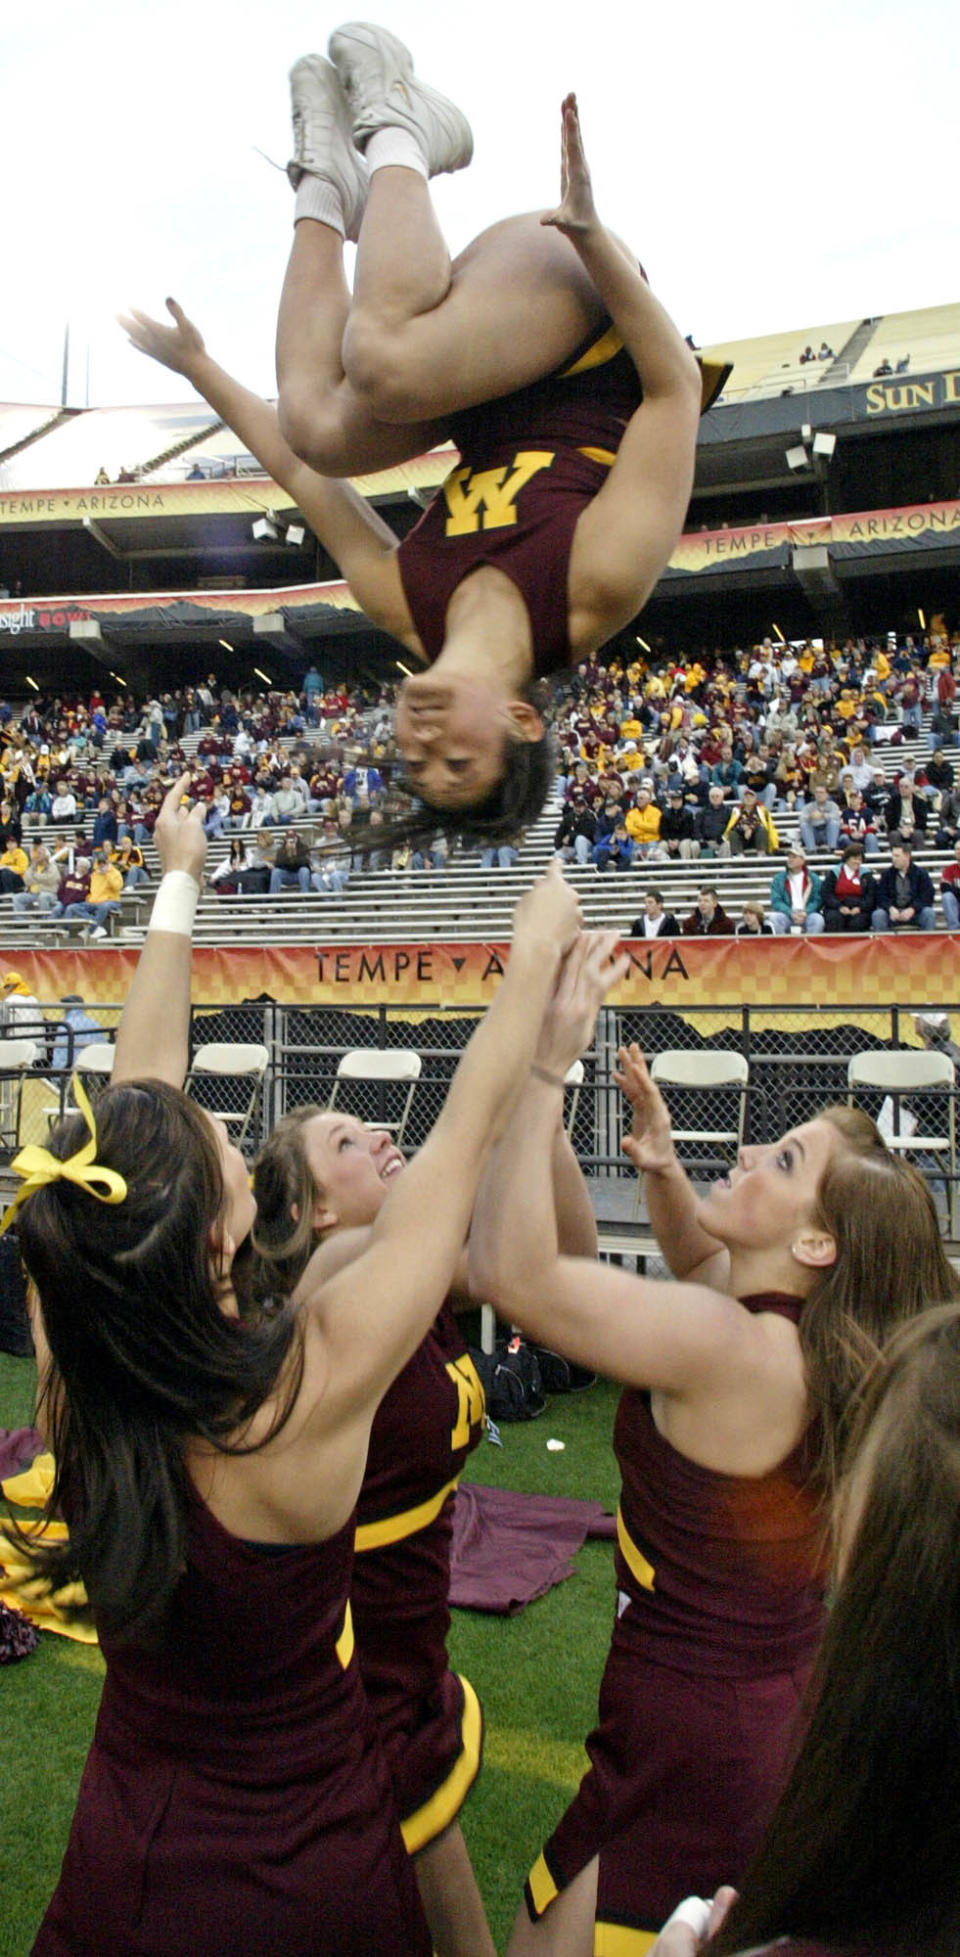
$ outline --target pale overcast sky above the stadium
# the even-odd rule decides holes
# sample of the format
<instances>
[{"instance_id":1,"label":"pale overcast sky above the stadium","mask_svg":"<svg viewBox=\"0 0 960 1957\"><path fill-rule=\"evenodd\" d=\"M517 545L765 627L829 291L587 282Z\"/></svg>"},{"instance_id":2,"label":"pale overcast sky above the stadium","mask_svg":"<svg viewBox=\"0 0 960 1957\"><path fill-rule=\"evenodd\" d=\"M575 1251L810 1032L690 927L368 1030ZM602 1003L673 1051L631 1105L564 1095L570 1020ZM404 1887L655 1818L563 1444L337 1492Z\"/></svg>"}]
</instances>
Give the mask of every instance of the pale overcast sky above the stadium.
<instances>
[{"instance_id":1,"label":"pale overcast sky above the stadium","mask_svg":"<svg viewBox=\"0 0 960 1957\"><path fill-rule=\"evenodd\" d=\"M960 297L956 0L377 0L471 117L454 249L553 204L577 88L596 202L708 344ZM182 401L113 313L172 292L262 393L293 194L285 74L315 0L2 8L0 401ZM594 23L594 25L592 25Z\"/></svg>"}]
</instances>

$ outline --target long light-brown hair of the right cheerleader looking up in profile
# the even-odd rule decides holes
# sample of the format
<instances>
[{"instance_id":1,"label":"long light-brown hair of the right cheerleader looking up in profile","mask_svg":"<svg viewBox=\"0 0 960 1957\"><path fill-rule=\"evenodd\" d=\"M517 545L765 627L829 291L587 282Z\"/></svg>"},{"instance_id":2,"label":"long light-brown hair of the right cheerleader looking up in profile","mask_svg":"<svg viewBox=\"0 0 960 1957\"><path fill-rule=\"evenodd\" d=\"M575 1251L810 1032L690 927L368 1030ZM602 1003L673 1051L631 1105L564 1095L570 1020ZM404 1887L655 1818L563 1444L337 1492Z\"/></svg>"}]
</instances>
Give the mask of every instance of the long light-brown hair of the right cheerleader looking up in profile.
<instances>
[{"instance_id":1,"label":"long light-brown hair of the right cheerleader looking up in profile","mask_svg":"<svg viewBox=\"0 0 960 1957\"><path fill-rule=\"evenodd\" d=\"M837 1243L800 1317L800 1344L819 1415L819 1479L837 1481L843 1425L878 1350L933 1299L958 1297L931 1192L856 1108L823 1108L841 1139L821 1176L813 1221Z\"/></svg>"}]
</instances>

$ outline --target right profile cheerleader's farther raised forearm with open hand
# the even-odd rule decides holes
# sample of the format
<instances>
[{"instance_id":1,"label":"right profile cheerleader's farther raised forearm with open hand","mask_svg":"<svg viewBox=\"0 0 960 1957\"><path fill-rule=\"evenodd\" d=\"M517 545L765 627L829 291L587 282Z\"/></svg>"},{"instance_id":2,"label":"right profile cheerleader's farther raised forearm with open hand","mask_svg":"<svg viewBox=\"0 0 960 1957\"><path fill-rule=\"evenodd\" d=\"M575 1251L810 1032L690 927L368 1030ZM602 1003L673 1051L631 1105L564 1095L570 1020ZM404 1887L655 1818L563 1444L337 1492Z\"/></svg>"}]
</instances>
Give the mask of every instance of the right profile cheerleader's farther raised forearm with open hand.
<instances>
[{"instance_id":1,"label":"right profile cheerleader's farther raised forearm with open hand","mask_svg":"<svg viewBox=\"0 0 960 1957\"><path fill-rule=\"evenodd\" d=\"M671 1115L637 1045L620 1047L614 1080L633 1114L624 1155L645 1176L651 1229L673 1276L725 1292L729 1251L696 1221L696 1196L676 1161Z\"/></svg>"}]
</instances>

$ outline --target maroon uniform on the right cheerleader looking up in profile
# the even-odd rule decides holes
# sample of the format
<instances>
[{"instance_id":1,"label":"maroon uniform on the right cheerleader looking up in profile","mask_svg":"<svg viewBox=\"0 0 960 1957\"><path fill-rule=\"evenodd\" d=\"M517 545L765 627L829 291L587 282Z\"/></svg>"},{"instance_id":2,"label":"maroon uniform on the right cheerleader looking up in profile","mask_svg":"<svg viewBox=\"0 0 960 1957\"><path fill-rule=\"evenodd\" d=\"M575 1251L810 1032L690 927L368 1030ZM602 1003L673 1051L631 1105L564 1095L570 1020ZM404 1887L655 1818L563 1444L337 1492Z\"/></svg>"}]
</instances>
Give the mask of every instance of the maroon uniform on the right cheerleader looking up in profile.
<instances>
[{"instance_id":1,"label":"maroon uniform on the right cheerleader looking up in profile","mask_svg":"<svg viewBox=\"0 0 960 1957\"><path fill-rule=\"evenodd\" d=\"M743 1297L794 1323L802 1299ZM782 1791L823 1632L813 1433L772 1474L723 1476L659 1433L624 1391L618 1611L590 1767L534 1865L542 1916L600 1857L596 1949L645 1951L682 1896L737 1883Z\"/></svg>"}]
</instances>

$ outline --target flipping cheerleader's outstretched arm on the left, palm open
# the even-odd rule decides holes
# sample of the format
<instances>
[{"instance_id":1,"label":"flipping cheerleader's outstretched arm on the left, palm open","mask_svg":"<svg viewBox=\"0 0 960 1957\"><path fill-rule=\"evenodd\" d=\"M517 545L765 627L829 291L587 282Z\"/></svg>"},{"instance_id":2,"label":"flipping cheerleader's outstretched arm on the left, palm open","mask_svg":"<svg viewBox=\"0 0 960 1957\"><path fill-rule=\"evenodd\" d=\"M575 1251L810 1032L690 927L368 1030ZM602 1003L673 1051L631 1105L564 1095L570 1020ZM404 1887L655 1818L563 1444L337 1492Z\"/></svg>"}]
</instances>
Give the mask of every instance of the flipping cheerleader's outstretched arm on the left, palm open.
<instances>
[{"instance_id":1,"label":"flipping cheerleader's outstretched arm on the left, palm open","mask_svg":"<svg viewBox=\"0 0 960 1957\"><path fill-rule=\"evenodd\" d=\"M158 360L172 374L182 374L209 401L213 413L246 442L266 474L293 497L325 550L336 558L368 618L383 632L405 640L411 616L393 562L397 538L389 524L348 481L317 476L317 470L301 462L280 432L276 407L250 393L211 360L203 335L176 299L168 299L166 309L172 327L139 311L121 315L119 323L139 352Z\"/></svg>"}]
</instances>

